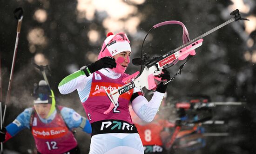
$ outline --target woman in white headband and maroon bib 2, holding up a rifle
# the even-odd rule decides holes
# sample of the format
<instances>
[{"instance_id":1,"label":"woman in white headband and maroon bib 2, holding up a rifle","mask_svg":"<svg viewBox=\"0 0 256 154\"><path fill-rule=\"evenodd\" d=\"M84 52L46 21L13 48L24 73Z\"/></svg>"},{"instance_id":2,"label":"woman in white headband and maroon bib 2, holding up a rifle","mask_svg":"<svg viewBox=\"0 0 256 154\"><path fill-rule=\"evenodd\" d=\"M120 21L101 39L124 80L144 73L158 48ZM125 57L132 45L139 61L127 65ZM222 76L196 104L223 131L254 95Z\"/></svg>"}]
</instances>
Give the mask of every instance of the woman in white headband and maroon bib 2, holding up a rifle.
<instances>
[{"instance_id":1,"label":"woman in white headband and maroon bib 2, holding up a rifle","mask_svg":"<svg viewBox=\"0 0 256 154\"><path fill-rule=\"evenodd\" d=\"M108 33L98 61L68 75L59 84L62 94L77 90L81 103L92 126L89 154L143 154L143 146L129 113L129 102L135 113L145 122L151 122L163 99L167 84L159 84L152 99L143 96L141 89L134 88L120 95L116 107L108 110L110 100L98 90L113 89L125 85L122 79L128 76L125 70L130 62L131 47L125 33ZM160 75L169 80L166 69ZM145 79L147 80L147 79Z\"/></svg>"}]
</instances>

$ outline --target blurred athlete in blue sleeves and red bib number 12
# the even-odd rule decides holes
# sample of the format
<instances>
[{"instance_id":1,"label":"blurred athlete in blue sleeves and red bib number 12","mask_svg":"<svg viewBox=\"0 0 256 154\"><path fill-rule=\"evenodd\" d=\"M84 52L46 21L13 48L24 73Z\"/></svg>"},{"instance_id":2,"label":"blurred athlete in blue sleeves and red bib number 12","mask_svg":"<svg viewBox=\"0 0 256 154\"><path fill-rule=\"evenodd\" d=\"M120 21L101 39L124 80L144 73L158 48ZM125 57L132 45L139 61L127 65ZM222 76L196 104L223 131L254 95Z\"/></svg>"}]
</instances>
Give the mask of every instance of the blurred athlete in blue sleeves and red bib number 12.
<instances>
[{"instance_id":1,"label":"blurred athlete in blue sleeves and red bib number 12","mask_svg":"<svg viewBox=\"0 0 256 154\"><path fill-rule=\"evenodd\" d=\"M54 92L44 80L35 87L33 94L34 107L25 109L13 123L0 131L0 142L6 142L27 128L34 136L39 154L79 154L73 129L80 127L91 134L88 119L73 109L55 105Z\"/></svg>"}]
</instances>

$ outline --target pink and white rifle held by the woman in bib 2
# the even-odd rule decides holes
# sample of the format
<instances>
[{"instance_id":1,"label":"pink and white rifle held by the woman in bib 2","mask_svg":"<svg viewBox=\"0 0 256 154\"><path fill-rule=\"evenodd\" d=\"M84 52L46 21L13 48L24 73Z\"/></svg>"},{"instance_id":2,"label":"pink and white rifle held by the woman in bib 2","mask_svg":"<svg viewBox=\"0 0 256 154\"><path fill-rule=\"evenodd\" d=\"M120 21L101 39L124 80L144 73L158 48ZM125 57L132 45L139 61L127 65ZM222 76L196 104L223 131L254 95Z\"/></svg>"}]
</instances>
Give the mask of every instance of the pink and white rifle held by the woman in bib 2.
<instances>
[{"instance_id":1,"label":"pink and white rifle held by the woman in bib 2","mask_svg":"<svg viewBox=\"0 0 256 154\"><path fill-rule=\"evenodd\" d=\"M180 60L182 61L185 58L187 58L186 62L188 62L189 59L193 55L195 55L195 49L202 45L203 37L222 28L225 25L228 25L229 23L231 23L233 21L248 20L246 18L241 17L238 9L231 12L230 15L234 16L234 17L229 19L225 23L211 29L210 31L207 31L206 33L202 34L201 36L196 37L192 41L190 41L190 39L189 39L189 33L188 33L187 28L180 21L165 21L165 22L154 25L148 31L148 33L151 30L153 30L157 27L160 27L162 25L168 25L168 24L182 25L182 28L183 28L182 39L183 39L184 44L174 50L169 51L168 53L166 53L164 55L160 55L160 56L154 57L152 59L147 54L144 54L144 56L142 56L142 48L141 48L141 58L135 58L132 60L132 62L135 65L141 65L141 70L142 70L142 65L145 65L145 68L142 73L137 71L134 74L124 78L122 81L123 81L123 83L126 83L126 84L124 86L121 86L118 89L111 91L111 92L108 92L106 89L101 89L101 90L98 90L93 93L93 95L94 95L98 92L105 92L107 94L109 100L111 101L111 104L110 104L108 110L105 111L104 114L108 114L108 112L110 112L114 107L116 107L116 104L118 104L118 98L121 94L128 92L129 90L131 90L135 87L140 88L140 89L145 87L148 90L154 89L158 84L160 84L162 82L162 80L158 77L158 75L162 73L162 69L172 67L178 61L180 61ZM146 37L148 36L148 33L147 33ZM146 37L144 38L144 41L145 41ZM144 41L143 41L143 43L144 43ZM142 43L142 47L143 47L143 43ZM167 82L163 81L164 84L167 84L168 82L172 81L176 77L177 74L181 74L181 70L184 67L184 65L186 64L186 62L184 64L182 64L179 71L171 78L171 80L169 80Z\"/></svg>"}]
</instances>

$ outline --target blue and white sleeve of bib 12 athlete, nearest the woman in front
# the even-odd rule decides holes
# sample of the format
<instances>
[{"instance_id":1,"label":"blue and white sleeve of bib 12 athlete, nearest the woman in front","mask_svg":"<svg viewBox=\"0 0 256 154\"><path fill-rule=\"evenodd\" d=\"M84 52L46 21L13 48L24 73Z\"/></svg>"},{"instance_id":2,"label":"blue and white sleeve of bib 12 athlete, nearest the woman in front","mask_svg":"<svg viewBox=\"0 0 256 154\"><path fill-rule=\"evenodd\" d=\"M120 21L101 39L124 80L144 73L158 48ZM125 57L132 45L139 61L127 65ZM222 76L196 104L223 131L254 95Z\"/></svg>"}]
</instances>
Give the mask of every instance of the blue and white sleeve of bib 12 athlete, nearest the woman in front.
<instances>
[{"instance_id":1,"label":"blue and white sleeve of bib 12 athlete, nearest the woman in front","mask_svg":"<svg viewBox=\"0 0 256 154\"><path fill-rule=\"evenodd\" d=\"M84 132L88 134L92 133L92 128L89 120L85 117L82 117L73 109L63 107L61 110L61 115L69 129L80 127Z\"/></svg>"}]
</instances>

